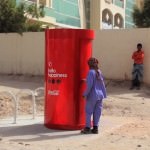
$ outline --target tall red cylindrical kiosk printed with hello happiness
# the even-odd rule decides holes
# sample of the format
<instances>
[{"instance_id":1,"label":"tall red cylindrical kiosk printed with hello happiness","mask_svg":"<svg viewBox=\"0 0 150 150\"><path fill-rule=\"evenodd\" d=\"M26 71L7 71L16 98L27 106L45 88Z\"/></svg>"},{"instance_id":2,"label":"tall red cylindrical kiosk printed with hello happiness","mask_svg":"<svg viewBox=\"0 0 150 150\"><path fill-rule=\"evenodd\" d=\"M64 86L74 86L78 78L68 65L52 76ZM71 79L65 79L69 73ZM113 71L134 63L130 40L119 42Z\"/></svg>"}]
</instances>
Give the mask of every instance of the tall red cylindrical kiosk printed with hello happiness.
<instances>
[{"instance_id":1,"label":"tall red cylindrical kiosk printed with hello happiness","mask_svg":"<svg viewBox=\"0 0 150 150\"><path fill-rule=\"evenodd\" d=\"M49 29L45 32L45 119L53 129L81 129L85 125L82 98L92 54L94 32L84 29Z\"/></svg>"}]
</instances>

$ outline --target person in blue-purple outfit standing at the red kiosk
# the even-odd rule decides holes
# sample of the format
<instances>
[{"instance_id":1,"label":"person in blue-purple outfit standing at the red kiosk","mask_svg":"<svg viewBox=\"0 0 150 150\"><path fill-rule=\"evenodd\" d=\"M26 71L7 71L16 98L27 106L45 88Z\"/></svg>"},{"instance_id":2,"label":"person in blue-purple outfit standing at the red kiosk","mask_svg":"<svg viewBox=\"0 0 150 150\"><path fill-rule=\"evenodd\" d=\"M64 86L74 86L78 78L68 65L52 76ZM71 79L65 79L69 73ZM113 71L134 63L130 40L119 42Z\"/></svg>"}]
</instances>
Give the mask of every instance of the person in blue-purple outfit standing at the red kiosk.
<instances>
[{"instance_id":1,"label":"person in blue-purple outfit standing at the red kiosk","mask_svg":"<svg viewBox=\"0 0 150 150\"><path fill-rule=\"evenodd\" d=\"M99 120L102 112L102 102L106 98L106 89L102 73L98 68L98 60L88 60L89 72L86 78L86 90L83 97L86 99L86 126L81 133L98 134ZM91 129L91 117L93 116L93 128Z\"/></svg>"}]
</instances>

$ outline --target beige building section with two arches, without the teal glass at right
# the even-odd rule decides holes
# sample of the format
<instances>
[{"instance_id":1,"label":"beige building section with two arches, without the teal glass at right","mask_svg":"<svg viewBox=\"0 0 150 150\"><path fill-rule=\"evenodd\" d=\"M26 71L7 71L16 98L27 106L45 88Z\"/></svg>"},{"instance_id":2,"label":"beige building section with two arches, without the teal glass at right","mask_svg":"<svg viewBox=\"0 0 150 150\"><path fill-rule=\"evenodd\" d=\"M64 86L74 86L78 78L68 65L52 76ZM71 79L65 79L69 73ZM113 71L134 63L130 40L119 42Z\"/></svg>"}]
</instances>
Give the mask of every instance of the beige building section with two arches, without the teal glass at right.
<instances>
[{"instance_id":1,"label":"beige building section with two arches, without the teal glass at right","mask_svg":"<svg viewBox=\"0 0 150 150\"><path fill-rule=\"evenodd\" d=\"M118 5L113 0L91 1L91 28L124 28L126 1L120 1Z\"/></svg>"}]
</instances>

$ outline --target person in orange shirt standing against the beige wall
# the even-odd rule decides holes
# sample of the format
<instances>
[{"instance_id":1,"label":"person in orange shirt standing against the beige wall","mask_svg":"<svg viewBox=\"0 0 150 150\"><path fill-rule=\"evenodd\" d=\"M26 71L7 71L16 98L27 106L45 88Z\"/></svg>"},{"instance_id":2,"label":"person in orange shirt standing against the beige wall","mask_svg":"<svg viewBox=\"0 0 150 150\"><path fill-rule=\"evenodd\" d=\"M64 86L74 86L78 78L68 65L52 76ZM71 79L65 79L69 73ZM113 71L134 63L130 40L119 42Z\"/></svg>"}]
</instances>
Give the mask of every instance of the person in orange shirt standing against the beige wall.
<instances>
[{"instance_id":1,"label":"person in orange shirt standing against the beige wall","mask_svg":"<svg viewBox=\"0 0 150 150\"><path fill-rule=\"evenodd\" d=\"M141 81L143 79L143 60L144 51L142 50L142 44L137 44L137 50L133 52L132 59L134 60L133 70L132 70L132 84L131 90L136 87L137 90L140 89Z\"/></svg>"}]
</instances>

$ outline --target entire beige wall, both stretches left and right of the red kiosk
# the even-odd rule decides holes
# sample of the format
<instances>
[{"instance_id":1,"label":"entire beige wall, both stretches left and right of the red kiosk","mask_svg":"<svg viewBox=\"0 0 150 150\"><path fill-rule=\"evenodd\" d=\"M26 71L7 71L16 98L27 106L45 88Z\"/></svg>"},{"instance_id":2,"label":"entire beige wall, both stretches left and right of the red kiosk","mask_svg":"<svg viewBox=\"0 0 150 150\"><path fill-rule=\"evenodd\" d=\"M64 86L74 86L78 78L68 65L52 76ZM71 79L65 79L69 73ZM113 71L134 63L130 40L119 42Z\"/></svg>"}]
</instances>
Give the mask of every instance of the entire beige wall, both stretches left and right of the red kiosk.
<instances>
[{"instance_id":1,"label":"entire beige wall, both stretches left and right of the red kiosk","mask_svg":"<svg viewBox=\"0 0 150 150\"><path fill-rule=\"evenodd\" d=\"M95 31L93 55L106 78L130 80L131 55L138 42L145 51L144 82L150 84L150 29ZM0 34L0 73L44 74L44 32Z\"/></svg>"}]
</instances>

